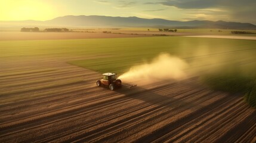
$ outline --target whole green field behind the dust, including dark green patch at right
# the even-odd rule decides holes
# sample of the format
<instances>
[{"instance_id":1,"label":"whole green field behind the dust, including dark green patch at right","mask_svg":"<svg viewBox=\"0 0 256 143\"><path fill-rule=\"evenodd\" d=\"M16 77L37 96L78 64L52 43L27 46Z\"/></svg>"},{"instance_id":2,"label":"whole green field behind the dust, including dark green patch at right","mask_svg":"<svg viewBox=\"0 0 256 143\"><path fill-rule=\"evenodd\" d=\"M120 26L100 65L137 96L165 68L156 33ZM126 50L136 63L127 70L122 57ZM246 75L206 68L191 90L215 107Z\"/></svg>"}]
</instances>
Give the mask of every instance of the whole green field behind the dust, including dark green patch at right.
<instances>
[{"instance_id":1,"label":"whole green field behind the dust, including dark green patch at right","mask_svg":"<svg viewBox=\"0 0 256 143\"><path fill-rule=\"evenodd\" d=\"M35 56L64 58L69 59L65 60L67 63L76 66L100 73L118 74L128 71L132 66L148 63L160 53L166 52L189 63L190 67L187 70L201 76L209 86L224 91L231 91L230 87L234 87L235 84L236 88L241 88L242 92L246 93L252 89L254 83L252 82L248 88L243 88L244 83L248 80L251 82L256 77L256 41L250 40L172 36L1 41L0 48L1 59ZM224 76L220 77L220 73ZM232 77L229 77L230 75ZM225 82L220 82L222 80Z\"/></svg>"}]
</instances>

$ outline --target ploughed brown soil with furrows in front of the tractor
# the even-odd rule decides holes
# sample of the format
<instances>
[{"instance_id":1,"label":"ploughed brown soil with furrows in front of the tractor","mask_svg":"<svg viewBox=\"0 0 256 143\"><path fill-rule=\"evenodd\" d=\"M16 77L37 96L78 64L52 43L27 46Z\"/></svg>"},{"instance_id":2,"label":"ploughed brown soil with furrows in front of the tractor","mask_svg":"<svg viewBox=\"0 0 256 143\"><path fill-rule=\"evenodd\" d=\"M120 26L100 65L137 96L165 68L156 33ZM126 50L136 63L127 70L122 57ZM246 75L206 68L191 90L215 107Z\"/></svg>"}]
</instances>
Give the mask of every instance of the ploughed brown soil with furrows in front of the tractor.
<instances>
[{"instance_id":1,"label":"ploughed brown soil with furrows in front of the tractor","mask_svg":"<svg viewBox=\"0 0 256 143\"><path fill-rule=\"evenodd\" d=\"M110 91L61 58L18 61L0 59L0 142L255 142L256 111L196 77Z\"/></svg>"}]
</instances>

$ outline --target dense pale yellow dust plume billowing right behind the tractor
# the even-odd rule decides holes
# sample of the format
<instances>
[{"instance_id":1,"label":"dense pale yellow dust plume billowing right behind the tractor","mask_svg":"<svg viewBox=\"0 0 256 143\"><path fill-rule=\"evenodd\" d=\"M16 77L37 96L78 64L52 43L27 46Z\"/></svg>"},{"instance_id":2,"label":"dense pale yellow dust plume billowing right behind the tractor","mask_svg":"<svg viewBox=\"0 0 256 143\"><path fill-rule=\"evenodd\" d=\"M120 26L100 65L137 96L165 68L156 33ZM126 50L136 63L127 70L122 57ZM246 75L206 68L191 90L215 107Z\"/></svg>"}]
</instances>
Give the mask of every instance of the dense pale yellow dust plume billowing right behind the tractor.
<instances>
[{"instance_id":1,"label":"dense pale yellow dust plume billowing right behind the tractor","mask_svg":"<svg viewBox=\"0 0 256 143\"><path fill-rule=\"evenodd\" d=\"M129 69L118 78L123 82L153 83L161 80L180 80L187 77L188 64L178 57L160 54L151 63L141 64Z\"/></svg>"}]
</instances>

